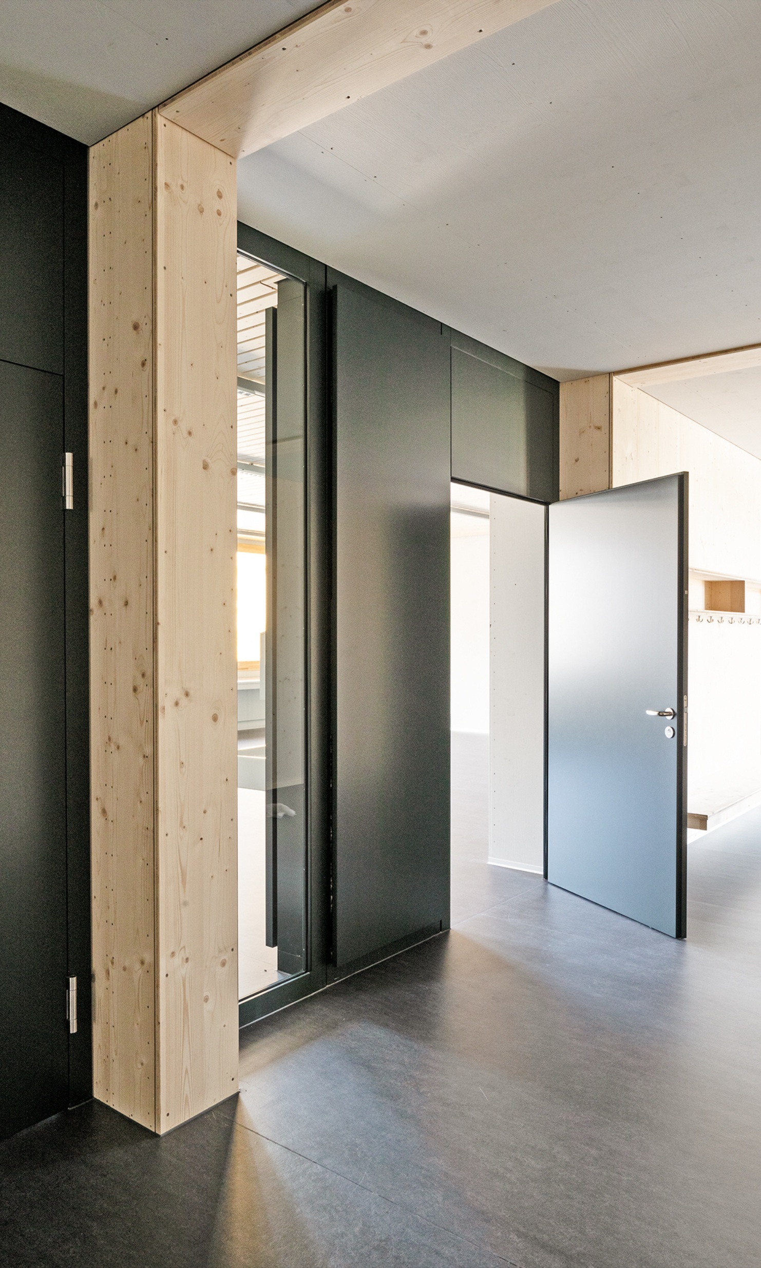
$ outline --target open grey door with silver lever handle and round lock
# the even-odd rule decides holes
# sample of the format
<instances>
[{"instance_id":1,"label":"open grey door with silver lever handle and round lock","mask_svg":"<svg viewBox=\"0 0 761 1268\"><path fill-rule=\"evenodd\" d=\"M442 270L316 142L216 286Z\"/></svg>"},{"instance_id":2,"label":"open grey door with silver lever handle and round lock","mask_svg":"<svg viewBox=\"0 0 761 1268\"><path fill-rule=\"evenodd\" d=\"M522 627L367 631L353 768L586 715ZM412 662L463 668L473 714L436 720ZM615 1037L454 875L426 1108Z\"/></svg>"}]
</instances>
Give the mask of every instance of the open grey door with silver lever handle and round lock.
<instances>
[{"instance_id":1,"label":"open grey door with silver lever handle and round lock","mask_svg":"<svg viewBox=\"0 0 761 1268\"><path fill-rule=\"evenodd\" d=\"M549 507L547 879L686 932L687 476Z\"/></svg>"}]
</instances>

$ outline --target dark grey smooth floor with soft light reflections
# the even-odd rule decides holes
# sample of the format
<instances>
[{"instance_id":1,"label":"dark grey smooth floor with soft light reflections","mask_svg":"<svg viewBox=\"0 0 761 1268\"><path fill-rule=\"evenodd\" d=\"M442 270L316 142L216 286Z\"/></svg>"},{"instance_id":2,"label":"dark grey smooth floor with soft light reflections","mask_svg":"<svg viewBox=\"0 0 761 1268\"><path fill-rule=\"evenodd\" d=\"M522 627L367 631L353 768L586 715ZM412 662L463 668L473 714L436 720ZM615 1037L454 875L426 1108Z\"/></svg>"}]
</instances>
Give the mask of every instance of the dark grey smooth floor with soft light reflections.
<instances>
[{"instance_id":1,"label":"dark grey smooth floor with soft light reflections","mask_svg":"<svg viewBox=\"0 0 761 1268\"><path fill-rule=\"evenodd\" d=\"M244 1032L237 1099L1 1145L0 1263L757 1268L761 810L690 847L686 942L481 839L457 927Z\"/></svg>"}]
</instances>

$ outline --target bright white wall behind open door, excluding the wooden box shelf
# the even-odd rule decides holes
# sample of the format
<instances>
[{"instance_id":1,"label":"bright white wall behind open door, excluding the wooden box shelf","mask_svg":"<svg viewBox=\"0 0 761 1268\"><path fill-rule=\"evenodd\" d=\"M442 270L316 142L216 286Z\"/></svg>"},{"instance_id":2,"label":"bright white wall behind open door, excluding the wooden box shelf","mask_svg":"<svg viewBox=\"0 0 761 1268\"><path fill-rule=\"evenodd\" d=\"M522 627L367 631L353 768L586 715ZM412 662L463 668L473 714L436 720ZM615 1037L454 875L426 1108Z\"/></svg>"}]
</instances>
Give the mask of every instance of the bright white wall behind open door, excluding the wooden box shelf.
<instances>
[{"instance_id":1,"label":"bright white wall behind open door, excluding the wooden box shelf","mask_svg":"<svg viewBox=\"0 0 761 1268\"><path fill-rule=\"evenodd\" d=\"M761 578L761 462L615 378L611 455L614 486L690 473L687 808L710 815L761 790L761 625L699 611L701 573Z\"/></svg>"}]
</instances>

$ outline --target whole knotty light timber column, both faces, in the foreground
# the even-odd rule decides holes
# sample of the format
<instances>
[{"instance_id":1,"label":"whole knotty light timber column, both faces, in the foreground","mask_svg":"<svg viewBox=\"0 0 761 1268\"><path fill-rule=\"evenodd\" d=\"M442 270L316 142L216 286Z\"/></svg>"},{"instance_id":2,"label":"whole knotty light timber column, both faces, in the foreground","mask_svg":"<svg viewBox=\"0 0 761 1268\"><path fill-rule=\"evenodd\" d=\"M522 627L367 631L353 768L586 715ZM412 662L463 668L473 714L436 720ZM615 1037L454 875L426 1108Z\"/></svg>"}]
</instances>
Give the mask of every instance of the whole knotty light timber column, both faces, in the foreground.
<instances>
[{"instance_id":1,"label":"whole knotty light timber column, both faces, in the foreground","mask_svg":"<svg viewBox=\"0 0 761 1268\"><path fill-rule=\"evenodd\" d=\"M95 1096L237 1088L236 171L157 112L90 151Z\"/></svg>"}]
</instances>

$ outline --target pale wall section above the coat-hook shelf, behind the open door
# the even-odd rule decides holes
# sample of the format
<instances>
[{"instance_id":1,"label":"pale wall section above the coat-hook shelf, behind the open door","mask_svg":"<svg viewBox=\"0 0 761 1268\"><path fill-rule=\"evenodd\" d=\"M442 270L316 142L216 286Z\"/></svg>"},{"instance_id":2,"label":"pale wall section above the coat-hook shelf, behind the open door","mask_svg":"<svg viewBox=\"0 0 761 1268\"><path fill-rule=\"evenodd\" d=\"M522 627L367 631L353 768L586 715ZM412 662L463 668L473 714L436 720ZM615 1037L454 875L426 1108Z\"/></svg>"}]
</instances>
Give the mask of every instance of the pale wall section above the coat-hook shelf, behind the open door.
<instances>
[{"instance_id":1,"label":"pale wall section above the coat-hook shelf, behind the open door","mask_svg":"<svg viewBox=\"0 0 761 1268\"><path fill-rule=\"evenodd\" d=\"M761 462L613 379L611 484L690 473L690 568L761 578Z\"/></svg>"}]
</instances>

